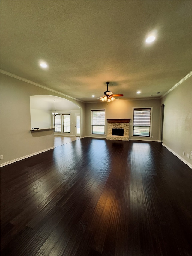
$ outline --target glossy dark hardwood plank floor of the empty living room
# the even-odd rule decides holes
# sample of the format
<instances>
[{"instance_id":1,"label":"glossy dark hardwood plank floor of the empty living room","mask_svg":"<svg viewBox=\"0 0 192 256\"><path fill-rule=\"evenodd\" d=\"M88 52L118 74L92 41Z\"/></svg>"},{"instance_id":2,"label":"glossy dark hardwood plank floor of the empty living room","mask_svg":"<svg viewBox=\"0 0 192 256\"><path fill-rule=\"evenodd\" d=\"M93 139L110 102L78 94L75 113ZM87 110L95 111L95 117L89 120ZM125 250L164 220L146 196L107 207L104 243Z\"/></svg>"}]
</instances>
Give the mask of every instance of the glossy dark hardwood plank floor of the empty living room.
<instances>
[{"instance_id":1,"label":"glossy dark hardwood plank floor of the empty living room","mask_svg":"<svg viewBox=\"0 0 192 256\"><path fill-rule=\"evenodd\" d=\"M84 138L1 168L1 256L192 255L192 170L158 142Z\"/></svg>"}]
</instances>

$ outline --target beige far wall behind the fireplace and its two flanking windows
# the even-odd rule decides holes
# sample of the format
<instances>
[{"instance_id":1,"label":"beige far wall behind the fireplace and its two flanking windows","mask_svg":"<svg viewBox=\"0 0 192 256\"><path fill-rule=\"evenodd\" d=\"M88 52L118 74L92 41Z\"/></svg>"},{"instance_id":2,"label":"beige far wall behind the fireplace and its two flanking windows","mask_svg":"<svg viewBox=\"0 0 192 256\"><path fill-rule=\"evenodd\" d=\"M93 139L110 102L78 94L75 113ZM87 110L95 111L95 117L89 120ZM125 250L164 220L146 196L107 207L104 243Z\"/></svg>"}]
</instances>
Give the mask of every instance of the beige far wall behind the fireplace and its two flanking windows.
<instances>
[{"instance_id":1,"label":"beige far wall behind the fireplace and its two flanking windows","mask_svg":"<svg viewBox=\"0 0 192 256\"><path fill-rule=\"evenodd\" d=\"M136 107L152 107L152 138L149 137L133 137L132 136L132 122L133 122L133 108ZM126 100L116 100L110 103L101 102L101 103L89 103L86 104L86 135L89 137L102 137L101 135L92 135L91 134L91 109L105 109L106 110L106 119L108 118L131 118L130 121L130 132L129 139L133 140L160 140L160 112L161 112L161 100L137 100L137 101L126 101ZM107 121L106 121L106 134L103 137L107 136Z\"/></svg>"}]
</instances>

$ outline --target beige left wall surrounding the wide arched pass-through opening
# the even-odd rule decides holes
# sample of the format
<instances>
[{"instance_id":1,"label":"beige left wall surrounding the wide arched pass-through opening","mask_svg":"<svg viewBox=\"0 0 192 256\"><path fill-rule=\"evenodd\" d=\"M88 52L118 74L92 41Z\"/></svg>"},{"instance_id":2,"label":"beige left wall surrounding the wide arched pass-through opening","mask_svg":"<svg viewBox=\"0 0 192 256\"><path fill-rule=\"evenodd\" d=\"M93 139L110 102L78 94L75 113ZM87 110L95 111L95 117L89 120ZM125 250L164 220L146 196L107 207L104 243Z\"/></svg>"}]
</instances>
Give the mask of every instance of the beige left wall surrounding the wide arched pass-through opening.
<instances>
[{"instance_id":1,"label":"beige left wall surrounding the wide arched pass-through opening","mask_svg":"<svg viewBox=\"0 0 192 256\"><path fill-rule=\"evenodd\" d=\"M85 104L25 81L1 74L1 165L54 146L53 131L31 133L30 96L54 95L80 107L81 136L85 136Z\"/></svg>"}]
</instances>

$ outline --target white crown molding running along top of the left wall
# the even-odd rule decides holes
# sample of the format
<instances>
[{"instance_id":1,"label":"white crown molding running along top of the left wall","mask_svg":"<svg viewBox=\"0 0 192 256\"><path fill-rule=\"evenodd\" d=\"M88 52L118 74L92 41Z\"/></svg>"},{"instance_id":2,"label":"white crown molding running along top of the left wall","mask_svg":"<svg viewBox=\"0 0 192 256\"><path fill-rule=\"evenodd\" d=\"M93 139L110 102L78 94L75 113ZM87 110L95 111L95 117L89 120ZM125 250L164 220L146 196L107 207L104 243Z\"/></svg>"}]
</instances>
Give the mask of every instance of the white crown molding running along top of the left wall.
<instances>
[{"instance_id":1,"label":"white crown molding running along top of the left wall","mask_svg":"<svg viewBox=\"0 0 192 256\"><path fill-rule=\"evenodd\" d=\"M58 94L60 94L60 95L62 95L62 96L65 96L65 97L67 97L67 98L70 98L70 99L73 99L73 100L76 100L76 101L80 101L80 102L86 103L86 102L84 102L84 101L81 101L81 100L78 100L78 99L73 98L73 97L71 97L71 96L68 96L68 95L66 95L66 94L64 94L64 93L62 93L62 92L55 91L55 90L50 89L50 88L48 88L48 87L46 87L46 86L43 86L43 85L41 85L41 84L39 84L39 83L35 83L35 82L33 82L33 81L31 81L31 80L28 80L28 79L26 79L26 78L23 78L23 77L19 77L19 76L15 75L15 74L9 73L9 72L4 71L4 70L2 70L2 69L0 69L0 72L1 72L2 74L4 74L4 75L9 76L9 77L14 77L14 78L19 79L19 80L21 80L21 81L24 81L24 82L26 82L26 83L30 83L30 84L32 84L32 85L35 85L35 86L41 87L41 88L43 88L43 89L46 89L46 90L48 90L48 91L58 93Z\"/></svg>"}]
</instances>

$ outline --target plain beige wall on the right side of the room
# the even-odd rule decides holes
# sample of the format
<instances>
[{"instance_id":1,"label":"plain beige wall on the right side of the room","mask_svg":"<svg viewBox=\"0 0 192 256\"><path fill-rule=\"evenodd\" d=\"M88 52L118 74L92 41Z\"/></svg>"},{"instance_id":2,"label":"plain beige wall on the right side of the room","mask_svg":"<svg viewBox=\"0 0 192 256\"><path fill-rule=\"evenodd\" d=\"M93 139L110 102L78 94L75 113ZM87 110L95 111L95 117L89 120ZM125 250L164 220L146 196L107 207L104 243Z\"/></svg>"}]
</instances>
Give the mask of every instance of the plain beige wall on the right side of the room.
<instances>
[{"instance_id":1,"label":"plain beige wall on the right side of the room","mask_svg":"<svg viewBox=\"0 0 192 256\"><path fill-rule=\"evenodd\" d=\"M165 105L163 144L191 165L186 155L192 151L192 76L162 98L161 104Z\"/></svg>"}]
</instances>

